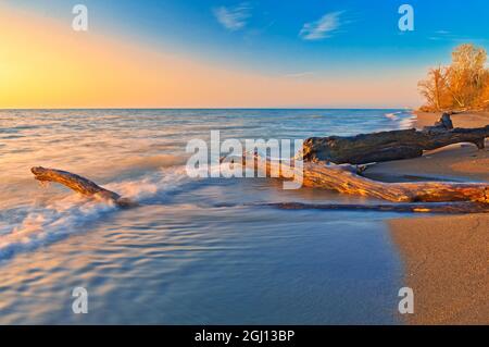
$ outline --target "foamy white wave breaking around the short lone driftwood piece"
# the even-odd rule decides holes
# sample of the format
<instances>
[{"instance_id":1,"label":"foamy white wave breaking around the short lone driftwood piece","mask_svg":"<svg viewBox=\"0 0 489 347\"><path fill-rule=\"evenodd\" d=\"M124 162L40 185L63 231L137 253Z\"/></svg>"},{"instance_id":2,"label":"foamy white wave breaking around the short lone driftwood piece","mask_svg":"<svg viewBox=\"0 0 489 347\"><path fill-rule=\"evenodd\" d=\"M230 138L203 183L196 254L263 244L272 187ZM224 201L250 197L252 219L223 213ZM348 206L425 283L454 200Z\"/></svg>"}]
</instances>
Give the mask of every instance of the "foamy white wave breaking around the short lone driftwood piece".
<instances>
[{"instance_id":1,"label":"foamy white wave breaking around the short lone driftwood piece","mask_svg":"<svg viewBox=\"0 0 489 347\"><path fill-rule=\"evenodd\" d=\"M188 177L185 166L180 165L164 168L138 179L108 184L105 187L143 203L155 197L161 199L190 181L195 178ZM3 232L0 230L0 261L79 233L87 223L96 222L116 210L114 203L87 200L76 194L45 202L40 207L33 206L21 223L2 227Z\"/></svg>"}]
</instances>

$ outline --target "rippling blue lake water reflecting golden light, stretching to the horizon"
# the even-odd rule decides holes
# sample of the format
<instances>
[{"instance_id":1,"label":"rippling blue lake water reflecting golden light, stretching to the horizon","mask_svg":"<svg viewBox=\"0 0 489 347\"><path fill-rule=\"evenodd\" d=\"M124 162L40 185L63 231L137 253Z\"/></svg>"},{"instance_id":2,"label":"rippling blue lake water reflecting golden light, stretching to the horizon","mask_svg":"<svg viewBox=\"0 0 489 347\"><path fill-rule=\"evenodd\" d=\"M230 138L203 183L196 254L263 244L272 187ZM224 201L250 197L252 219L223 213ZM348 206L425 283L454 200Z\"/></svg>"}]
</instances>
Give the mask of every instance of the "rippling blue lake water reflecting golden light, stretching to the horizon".
<instances>
[{"instance_id":1,"label":"rippling blue lake water reflecting golden light, stretching to the horizon","mask_svg":"<svg viewBox=\"0 0 489 347\"><path fill-rule=\"evenodd\" d=\"M364 198L266 178L190 178L187 141L406 128L405 110L0 111L0 323L398 323L402 264L379 212L254 202ZM87 200L67 170L140 202ZM88 292L87 314L72 290Z\"/></svg>"}]
</instances>

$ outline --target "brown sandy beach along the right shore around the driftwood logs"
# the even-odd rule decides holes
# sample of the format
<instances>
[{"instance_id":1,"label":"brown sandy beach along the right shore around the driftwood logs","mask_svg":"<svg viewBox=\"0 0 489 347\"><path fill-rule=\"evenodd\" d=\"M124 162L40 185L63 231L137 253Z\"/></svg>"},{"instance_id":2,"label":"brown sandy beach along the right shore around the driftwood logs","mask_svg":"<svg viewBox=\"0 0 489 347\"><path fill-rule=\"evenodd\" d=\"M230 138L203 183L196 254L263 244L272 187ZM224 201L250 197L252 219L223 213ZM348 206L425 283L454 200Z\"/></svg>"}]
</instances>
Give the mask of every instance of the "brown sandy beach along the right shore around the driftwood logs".
<instances>
[{"instance_id":1,"label":"brown sandy beach along the right shore around the driftwood logs","mask_svg":"<svg viewBox=\"0 0 489 347\"><path fill-rule=\"evenodd\" d=\"M439 114L417 113L416 127ZM452 115L455 127L489 124L489 113ZM486 145L488 145L486 142ZM489 182L489 151L453 145L423 158L380 163L371 175ZM410 324L489 323L489 215L440 215L389 222L405 267L404 283L414 290Z\"/></svg>"}]
</instances>

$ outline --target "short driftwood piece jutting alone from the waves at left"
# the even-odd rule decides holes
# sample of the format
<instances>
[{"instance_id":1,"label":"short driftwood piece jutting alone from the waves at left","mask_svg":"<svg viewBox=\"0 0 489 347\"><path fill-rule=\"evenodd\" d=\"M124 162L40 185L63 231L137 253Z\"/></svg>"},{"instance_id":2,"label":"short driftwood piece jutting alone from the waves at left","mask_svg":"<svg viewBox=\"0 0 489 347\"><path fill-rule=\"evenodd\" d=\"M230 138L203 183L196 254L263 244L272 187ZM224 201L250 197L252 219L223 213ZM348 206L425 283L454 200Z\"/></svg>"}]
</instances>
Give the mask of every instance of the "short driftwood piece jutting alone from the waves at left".
<instances>
[{"instance_id":1,"label":"short driftwood piece jutting alone from the waves at left","mask_svg":"<svg viewBox=\"0 0 489 347\"><path fill-rule=\"evenodd\" d=\"M135 202L122 198L118 194L98 186L96 183L85 177L78 176L67 171L45 169L36 166L30 169L35 178L39 182L57 182L82 195L101 200L113 201L118 207L133 207Z\"/></svg>"}]
</instances>

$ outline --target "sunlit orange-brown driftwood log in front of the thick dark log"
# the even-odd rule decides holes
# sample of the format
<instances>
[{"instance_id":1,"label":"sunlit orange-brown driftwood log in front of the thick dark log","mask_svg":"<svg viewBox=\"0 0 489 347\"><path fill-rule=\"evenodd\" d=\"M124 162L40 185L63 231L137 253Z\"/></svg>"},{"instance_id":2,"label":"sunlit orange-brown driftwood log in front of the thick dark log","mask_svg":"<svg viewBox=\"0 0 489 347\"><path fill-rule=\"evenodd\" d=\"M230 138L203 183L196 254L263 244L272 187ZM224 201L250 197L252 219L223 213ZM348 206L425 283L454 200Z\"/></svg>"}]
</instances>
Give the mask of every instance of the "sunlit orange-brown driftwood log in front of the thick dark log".
<instances>
[{"instance_id":1,"label":"sunlit orange-brown driftwood log in front of the thick dark log","mask_svg":"<svg viewBox=\"0 0 489 347\"><path fill-rule=\"evenodd\" d=\"M243 159L244 162L244 159ZM246 162L244 162L246 163ZM310 205L301 202L264 203L280 209L376 210L391 212L481 213L489 212L488 183L403 182L385 183L361 175L364 166L304 162L302 170L279 161L255 156L254 166L267 176L278 173L281 179L302 174L303 186L371 197L396 203Z\"/></svg>"}]
</instances>

